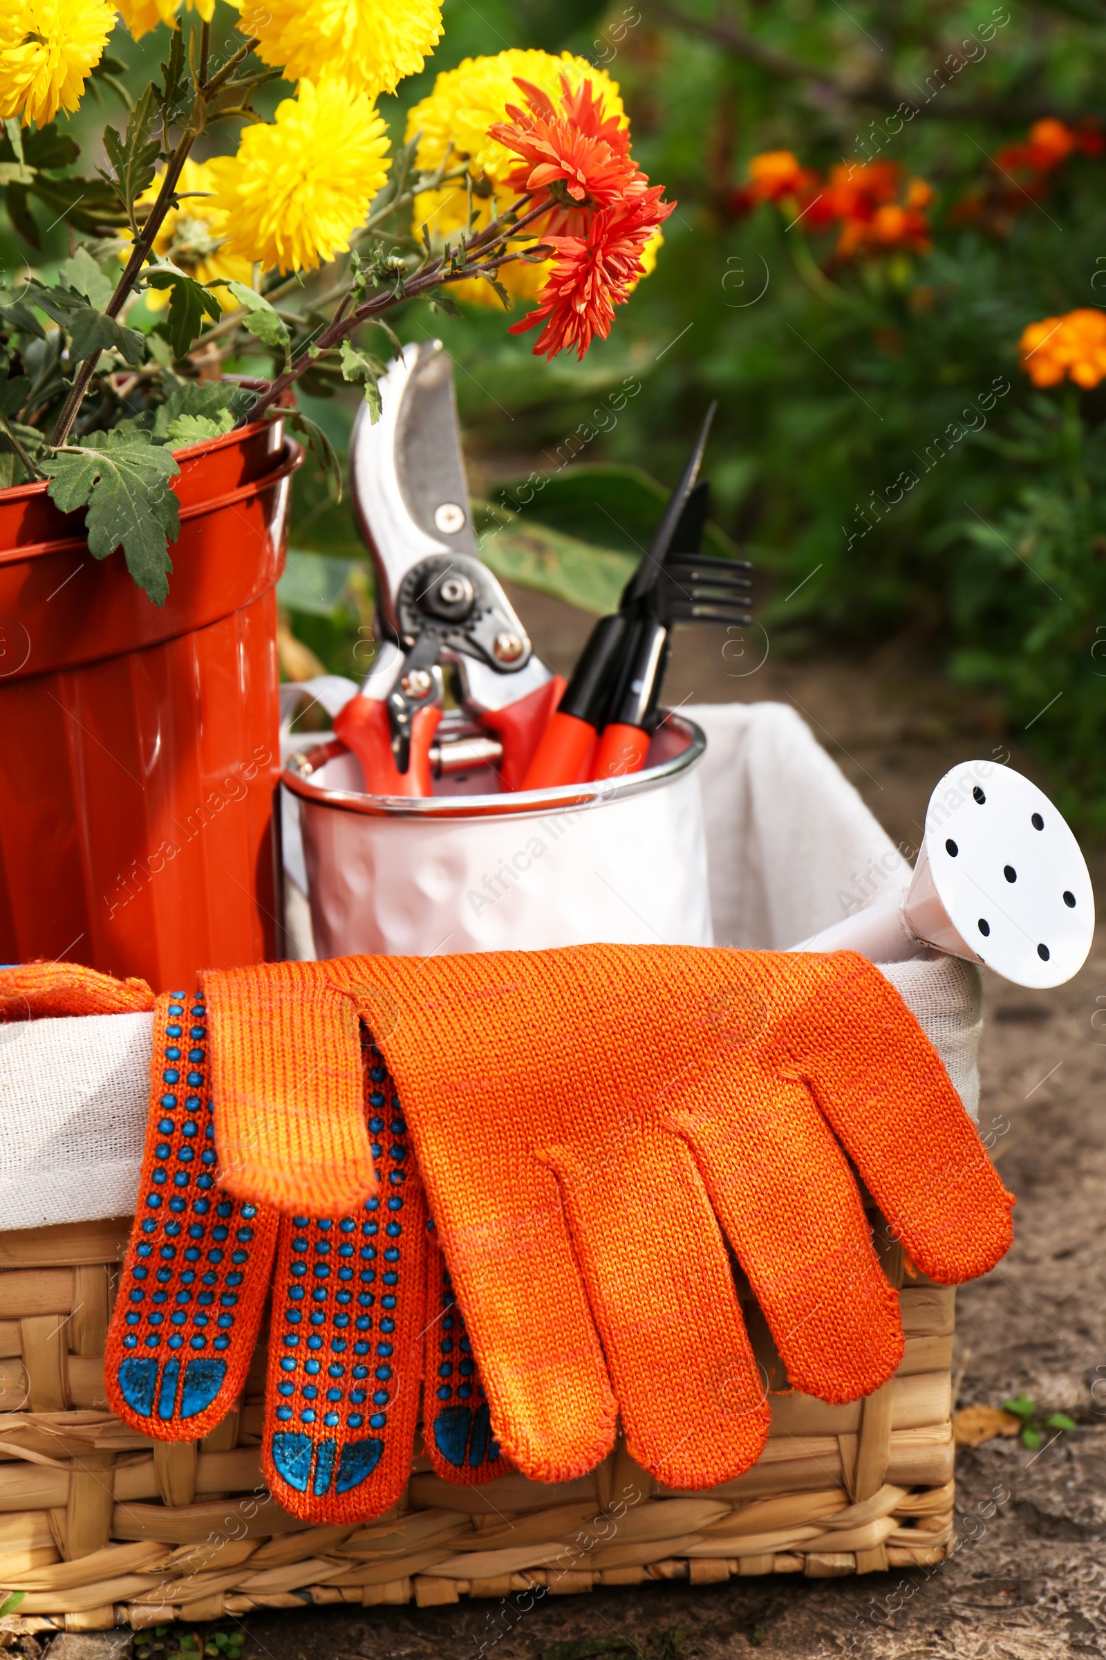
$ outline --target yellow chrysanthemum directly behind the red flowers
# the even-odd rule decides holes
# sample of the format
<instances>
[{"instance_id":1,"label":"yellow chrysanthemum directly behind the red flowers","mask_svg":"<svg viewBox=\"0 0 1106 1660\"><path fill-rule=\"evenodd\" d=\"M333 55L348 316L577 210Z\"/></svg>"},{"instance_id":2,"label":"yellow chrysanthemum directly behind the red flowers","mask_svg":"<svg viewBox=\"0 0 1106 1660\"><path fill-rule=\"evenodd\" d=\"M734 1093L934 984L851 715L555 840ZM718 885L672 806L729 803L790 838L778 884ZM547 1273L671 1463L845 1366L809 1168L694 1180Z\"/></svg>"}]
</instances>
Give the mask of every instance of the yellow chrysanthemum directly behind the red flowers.
<instances>
[{"instance_id":1,"label":"yellow chrysanthemum directly behind the red flowers","mask_svg":"<svg viewBox=\"0 0 1106 1660\"><path fill-rule=\"evenodd\" d=\"M444 70L429 96L411 108L406 138L410 143L416 133L421 134L418 164L426 171L439 168L446 159L468 161L474 186L473 208L478 214L474 229L489 224L494 214L514 201L516 193L506 181L519 166L519 158L489 138L488 128L494 121L507 120L509 103L526 103L516 85L516 75L541 86L554 103L560 96L562 75L572 86L590 81L595 93L604 95L607 115L617 115L620 126L630 124L622 108L618 83L612 81L605 70L597 70L587 58L575 58L570 51L562 51L555 58L551 51L524 51L511 46L494 58L466 58L456 70ZM415 234L421 237L426 226L438 246L463 231L466 217L464 179L438 191L423 191L415 198ZM547 276L547 262L512 261L499 271L502 286L521 300L534 299ZM479 279L451 284L449 292L474 305L499 305L492 289Z\"/></svg>"}]
</instances>

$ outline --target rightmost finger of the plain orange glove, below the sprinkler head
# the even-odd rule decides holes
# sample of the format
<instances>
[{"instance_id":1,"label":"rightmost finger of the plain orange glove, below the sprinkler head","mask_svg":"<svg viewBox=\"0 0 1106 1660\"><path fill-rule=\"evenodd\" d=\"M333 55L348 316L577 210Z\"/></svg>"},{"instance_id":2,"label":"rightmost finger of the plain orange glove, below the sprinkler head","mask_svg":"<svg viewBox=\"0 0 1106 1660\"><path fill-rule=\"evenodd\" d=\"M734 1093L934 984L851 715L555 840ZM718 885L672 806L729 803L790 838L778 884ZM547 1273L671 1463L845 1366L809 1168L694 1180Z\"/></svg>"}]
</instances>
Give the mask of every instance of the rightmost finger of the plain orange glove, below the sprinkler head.
<instances>
[{"instance_id":1,"label":"rightmost finger of the plain orange glove, below the sprinkler head","mask_svg":"<svg viewBox=\"0 0 1106 1660\"><path fill-rule=\"evenodd\" d=\"M960 1285L1010 1250L1013 1195L895 988L862 958L849 964L849 1018L804 1072L912 1260Z\"/></svg>"}]
</instances>

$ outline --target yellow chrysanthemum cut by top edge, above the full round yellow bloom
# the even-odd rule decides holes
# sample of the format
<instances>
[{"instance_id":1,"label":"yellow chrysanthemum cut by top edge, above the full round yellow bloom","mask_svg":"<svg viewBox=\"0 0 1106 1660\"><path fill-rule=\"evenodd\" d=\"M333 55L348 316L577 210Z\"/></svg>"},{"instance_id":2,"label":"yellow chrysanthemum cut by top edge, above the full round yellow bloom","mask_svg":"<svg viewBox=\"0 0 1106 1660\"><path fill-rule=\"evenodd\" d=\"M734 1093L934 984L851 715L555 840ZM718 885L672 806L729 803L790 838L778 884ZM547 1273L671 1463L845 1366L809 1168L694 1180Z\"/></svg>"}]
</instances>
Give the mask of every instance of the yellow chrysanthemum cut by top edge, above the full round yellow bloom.
<instances>
[{"instance_id":1,"label":"yellow chrysanthemum cut by top edge, above the full round yellow bloom","mask_svg":"<svg viewBox=\"0 0 1106 1660\"><path fill-rule=\"evenodd\" d=\"M285 80L342 76L376 98L418 75L441 40L441 0L232 0L257 56Z\"/></svg>"}]
</instances>

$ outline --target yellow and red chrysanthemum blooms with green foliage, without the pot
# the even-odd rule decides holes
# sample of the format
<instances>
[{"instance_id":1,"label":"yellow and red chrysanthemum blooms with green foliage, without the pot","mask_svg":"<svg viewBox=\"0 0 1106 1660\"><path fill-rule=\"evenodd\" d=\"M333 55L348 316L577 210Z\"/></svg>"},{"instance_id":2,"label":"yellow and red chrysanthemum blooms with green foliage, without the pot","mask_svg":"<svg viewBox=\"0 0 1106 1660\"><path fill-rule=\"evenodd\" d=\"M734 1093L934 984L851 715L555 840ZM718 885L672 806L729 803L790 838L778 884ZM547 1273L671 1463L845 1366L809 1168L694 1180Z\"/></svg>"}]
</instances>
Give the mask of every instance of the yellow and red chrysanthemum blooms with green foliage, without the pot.
<instances>
[{"instance_id":1,"label":"yellow and red chrysanthemum blooms with green foliage, without the pot","mask_svg":"<svg viewBox=\"0 0 1106 1660\"><path fill-rule=\"evenodd\" d=\"M512 334L584 357L672 212L630 154L618 86L584 58L468 58L391 154L376 98L433 55L438 0L234 3L227 40L214 0L8 0L0 15L8 214L35 251L56 224L70 236L53 281L28 267L0 284L0 488L48 480L63 511L86 508L93 556L123 548L156 604L179 528L174 450L280 407L337 468L289 388L358 383L375 418L398 349L386 312L454 309L449 290L527 304ZM109 55L116 10L136 40L167 30L144 86ZM277 80L295 93L265 120L254 98ZM93 81L124 106L96 176L58 124ZM237 151L214 154L230 123ZM224 380L227 364L260 390Z\"/></svg>"}]
</instances>

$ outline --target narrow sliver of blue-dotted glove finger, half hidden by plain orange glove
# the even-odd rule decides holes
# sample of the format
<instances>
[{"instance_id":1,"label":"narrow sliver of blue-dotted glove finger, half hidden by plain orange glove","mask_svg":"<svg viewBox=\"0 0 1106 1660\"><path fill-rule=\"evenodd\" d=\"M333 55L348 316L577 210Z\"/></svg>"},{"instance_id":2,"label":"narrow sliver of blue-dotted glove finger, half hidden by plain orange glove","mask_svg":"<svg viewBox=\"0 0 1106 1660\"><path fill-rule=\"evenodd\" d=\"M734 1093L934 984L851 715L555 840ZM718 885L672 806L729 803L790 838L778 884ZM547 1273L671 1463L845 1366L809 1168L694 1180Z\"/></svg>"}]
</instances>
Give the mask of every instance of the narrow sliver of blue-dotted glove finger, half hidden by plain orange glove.
<instances>
[{"instance_id":1,"label":"narrow sliver of blue-dotted glove finger, half hidden by plain orange glove","mask_svg":"<svg viewBox=\"0 0 1106 1660\"><path fill-rule=\"evenodd\" d=\"M426 1223L426 1351L423 1439L434 1472L476 1486L511 1469L491 1428L491 1408L433 1220Z\"/></svg>"}]
</instances>

